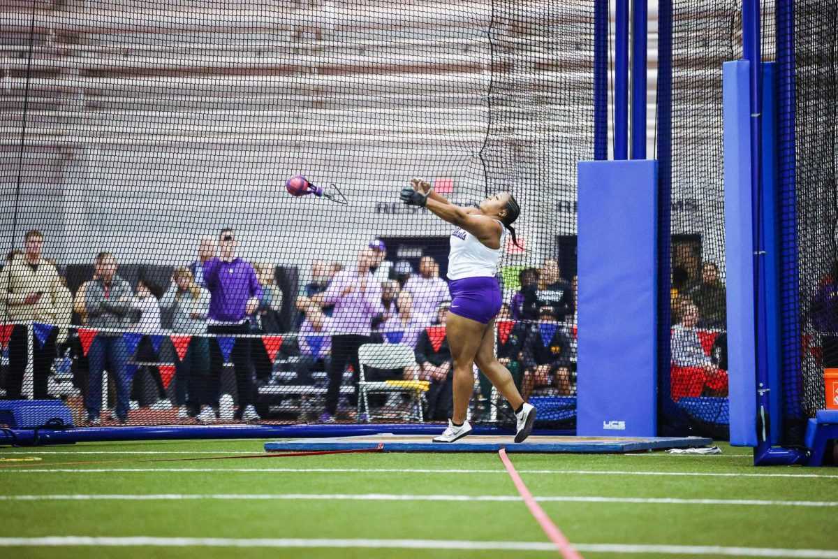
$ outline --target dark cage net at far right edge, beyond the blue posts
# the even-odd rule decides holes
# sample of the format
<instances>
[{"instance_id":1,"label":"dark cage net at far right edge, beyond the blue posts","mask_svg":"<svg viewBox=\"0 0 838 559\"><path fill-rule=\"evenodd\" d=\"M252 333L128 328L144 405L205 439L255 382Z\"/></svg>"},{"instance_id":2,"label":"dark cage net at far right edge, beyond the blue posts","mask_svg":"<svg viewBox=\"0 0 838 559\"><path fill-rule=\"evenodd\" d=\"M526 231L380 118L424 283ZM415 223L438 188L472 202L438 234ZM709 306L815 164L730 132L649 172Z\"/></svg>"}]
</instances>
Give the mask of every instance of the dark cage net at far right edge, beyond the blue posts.
<instances>
[{"instance_id":1,"label":"dark cage net at far right edge, beyond the blue posts","mask_svg":"<svg viewBox=\"0 0 838 559\"><path fill-rule=\"evenodd\" d=\"M782 4L782 9L781 9ZM794 80L781 106L780 231L783 274L783 442L801 445L805 422L824 409L824 369L838 366L835 227L835 52L838 3L778 3L780 69ZM796 258L794 257L796 256ZM838 395L829 395L835 397Z\"/></svg>"}]
</instances>

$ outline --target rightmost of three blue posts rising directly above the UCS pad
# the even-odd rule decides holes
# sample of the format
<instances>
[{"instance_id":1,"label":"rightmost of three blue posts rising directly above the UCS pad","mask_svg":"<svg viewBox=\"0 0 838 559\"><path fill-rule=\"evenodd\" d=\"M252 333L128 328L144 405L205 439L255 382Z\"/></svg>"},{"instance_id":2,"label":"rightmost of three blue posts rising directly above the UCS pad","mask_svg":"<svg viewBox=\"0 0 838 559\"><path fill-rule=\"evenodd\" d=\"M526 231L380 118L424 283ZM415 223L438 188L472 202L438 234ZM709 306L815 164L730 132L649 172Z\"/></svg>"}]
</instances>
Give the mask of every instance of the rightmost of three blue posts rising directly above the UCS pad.
<instances>
[{"instance_id":1,"label":"rightmost of three blue posts rising directly above the UCS pad","mask_svg":"<svg viewBox=\"0 0 838 559\"><path fill-rule=\"evenodd\" d=\"M634 0L631 14L631 158L646 158L646 0Z\"/></svg>"}]
</instances>

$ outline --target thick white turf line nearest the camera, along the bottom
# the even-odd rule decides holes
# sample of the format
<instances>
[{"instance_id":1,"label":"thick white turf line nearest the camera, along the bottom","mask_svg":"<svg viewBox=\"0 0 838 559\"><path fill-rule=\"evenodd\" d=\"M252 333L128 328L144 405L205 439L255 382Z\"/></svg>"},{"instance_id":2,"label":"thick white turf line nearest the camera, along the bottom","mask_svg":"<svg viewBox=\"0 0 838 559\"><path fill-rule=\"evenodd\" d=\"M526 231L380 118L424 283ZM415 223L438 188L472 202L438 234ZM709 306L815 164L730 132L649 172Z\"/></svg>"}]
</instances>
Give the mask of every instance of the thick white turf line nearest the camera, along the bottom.
<instances>
[{"instance_id":1,"label":"thick white turf line nearest the camera, along the bottom","mask_svg":"<svg viewBox=\"0 0 838 559\"><path fill-rule=\"evenodd\" d=\"M463 540L365 540L294 538L190 538L190 537L91 537L44 536L0 537L0 546L90 546L90 547L319 547L375 549L457 549L489 551L551 551L556 547L541 541L463 541ZM574 544L579 551L592 553L641 553L644 555L789 557L793 559L838 559L838 551L821 549L780 549L774 547L728 546L644 546L635 544Z\"/></svg>"}]
</instances>

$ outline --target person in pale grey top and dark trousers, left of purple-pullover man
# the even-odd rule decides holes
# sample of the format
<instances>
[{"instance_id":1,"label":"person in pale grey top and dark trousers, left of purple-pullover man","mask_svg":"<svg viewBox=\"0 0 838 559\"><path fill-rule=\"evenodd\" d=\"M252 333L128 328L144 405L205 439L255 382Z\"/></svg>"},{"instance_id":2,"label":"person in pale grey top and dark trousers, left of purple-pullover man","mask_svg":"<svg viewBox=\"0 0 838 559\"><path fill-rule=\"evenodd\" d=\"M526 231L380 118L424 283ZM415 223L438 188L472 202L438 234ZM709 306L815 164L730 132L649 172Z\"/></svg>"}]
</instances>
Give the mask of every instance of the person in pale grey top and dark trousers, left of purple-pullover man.
<instances>
[{"instance_id":1,"label":"person in pale grey top and dark trousers, left of purple-pullover man","mask_svg":"<svg viewBox=\"0 0 838 559\"><path fill-rule=\"evenodd\" d=\"M206 395L209 340L201 335L207 331L209 291L195 282L188 267L179 267L172 275L172 285L160 299L160 306L173 309L173 332L192 336L184 359L176 360L174 364L178 418L196 417L202 405L207 406L205 415L212 414Z\"/></svg>"}]
</instances>

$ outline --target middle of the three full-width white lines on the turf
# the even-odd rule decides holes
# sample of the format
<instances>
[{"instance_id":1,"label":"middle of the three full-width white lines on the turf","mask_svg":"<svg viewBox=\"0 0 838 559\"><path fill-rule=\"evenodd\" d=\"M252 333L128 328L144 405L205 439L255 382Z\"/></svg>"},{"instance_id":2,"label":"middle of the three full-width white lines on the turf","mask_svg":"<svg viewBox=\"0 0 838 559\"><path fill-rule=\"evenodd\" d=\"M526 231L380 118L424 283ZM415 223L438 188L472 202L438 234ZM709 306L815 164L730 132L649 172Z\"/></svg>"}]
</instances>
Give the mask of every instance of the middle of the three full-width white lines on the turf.
<instances>
[{"instance_id":1,"label":"middle of the three full-width white lines on the turf","mask_svg":"<svg viewBox=\"0 0 838 559\"><path fill-rule=\"evenodd\" d=\"M517 495L412 495L412 494L28 494L0 495L0 501L41 500L356 500L356 501L502 501L517 502ZM769 499L676 499L652 497L601 497L559 495L535 497L542 503L632 503L639 505L739 505L838 507L838 501L769 500Z\"/></svg>"}]
</instances>

